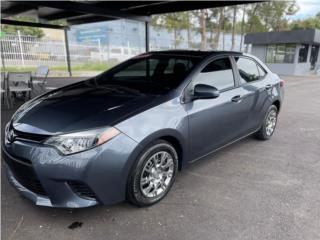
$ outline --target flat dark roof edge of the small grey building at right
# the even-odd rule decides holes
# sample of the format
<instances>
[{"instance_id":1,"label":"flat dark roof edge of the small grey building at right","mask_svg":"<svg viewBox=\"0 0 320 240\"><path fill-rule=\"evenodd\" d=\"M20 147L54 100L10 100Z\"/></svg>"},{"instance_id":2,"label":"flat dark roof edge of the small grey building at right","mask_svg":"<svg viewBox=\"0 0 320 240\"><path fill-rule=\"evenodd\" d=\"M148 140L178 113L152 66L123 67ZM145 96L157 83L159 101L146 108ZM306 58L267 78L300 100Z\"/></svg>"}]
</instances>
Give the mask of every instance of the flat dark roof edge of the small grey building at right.
<instances>
[{"instance_id":1,"label":"flat dark roof edge of the small grey building at right","mask_svg":"<svg viewBox=\"0 0 320 240\"><path fill-rule=\"evenodd\" d=\"M275 43L319 43L320 30L306 29L284 32L249 33L244 38L246 44L275 44Z\"/></svg>"}]
</instances>

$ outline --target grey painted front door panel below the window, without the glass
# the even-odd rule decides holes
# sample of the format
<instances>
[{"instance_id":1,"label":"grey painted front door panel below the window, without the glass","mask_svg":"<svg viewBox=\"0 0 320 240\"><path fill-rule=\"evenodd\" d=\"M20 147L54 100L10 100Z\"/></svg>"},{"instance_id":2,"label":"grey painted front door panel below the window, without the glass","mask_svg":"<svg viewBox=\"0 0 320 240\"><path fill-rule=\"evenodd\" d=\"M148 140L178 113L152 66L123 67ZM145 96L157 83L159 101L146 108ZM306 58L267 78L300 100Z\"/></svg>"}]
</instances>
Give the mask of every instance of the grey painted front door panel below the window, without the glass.
<instances>
[{"instance_id":1,"label":"grey painted front door panel below the window, without the glass","mask_svg":"<svg viewBox=\"0 0 320 240\"><path fill-rule=\"evenodd\" d=\"M185 106L189 116L190 159L199 158L243 134L239 125L247 118L249 109L246 101L231 100L238 95L242 96L241 88Z\"/></svg>"}]
</instances>

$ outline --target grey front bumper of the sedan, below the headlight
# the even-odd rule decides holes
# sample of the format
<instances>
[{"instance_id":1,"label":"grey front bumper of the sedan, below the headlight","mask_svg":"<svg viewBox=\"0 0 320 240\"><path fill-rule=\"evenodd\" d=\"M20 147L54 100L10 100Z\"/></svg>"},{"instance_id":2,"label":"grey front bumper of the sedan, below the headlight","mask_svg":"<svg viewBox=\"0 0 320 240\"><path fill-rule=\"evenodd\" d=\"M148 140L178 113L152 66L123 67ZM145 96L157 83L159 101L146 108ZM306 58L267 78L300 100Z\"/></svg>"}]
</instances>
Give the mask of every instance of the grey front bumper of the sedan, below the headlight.
<instances>
[{"instance_id":1,"label":"grey front bumper of the sedan, below the headlight","mask_svg":"<svg viewBox=\"0 0 320 240\"><path fill-rule=\"evenodd\" d=\"M36 205L80 208L125 200L139 145L125 134L85 152L62 156L52 147L15 141L3 146L12 185Z\"/></svg>"}]
</instances>

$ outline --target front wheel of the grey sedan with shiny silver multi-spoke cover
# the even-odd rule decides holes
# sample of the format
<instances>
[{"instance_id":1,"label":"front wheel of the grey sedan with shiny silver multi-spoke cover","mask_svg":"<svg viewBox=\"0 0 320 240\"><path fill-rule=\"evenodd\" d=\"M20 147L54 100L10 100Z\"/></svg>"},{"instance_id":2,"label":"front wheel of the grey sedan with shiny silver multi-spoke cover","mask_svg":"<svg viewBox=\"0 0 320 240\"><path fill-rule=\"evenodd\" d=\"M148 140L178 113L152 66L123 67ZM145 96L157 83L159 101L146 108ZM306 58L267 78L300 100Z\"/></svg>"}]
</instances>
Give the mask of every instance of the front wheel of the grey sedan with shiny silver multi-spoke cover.
<instances>
[{"instance_id":1,"label":"front wheel of the grey sedan with shiny silver multi-spoke cover","mask_svg":"<svg viewBox=\"0 0 320 240\"><path fill-rule=\"evenodd\" d=\"M178 170L178 154L164 140L150 144L138 157L131 171L128 185L128 200L146 207L162 200L171 189Z\"/></svg>"}]
</instances>

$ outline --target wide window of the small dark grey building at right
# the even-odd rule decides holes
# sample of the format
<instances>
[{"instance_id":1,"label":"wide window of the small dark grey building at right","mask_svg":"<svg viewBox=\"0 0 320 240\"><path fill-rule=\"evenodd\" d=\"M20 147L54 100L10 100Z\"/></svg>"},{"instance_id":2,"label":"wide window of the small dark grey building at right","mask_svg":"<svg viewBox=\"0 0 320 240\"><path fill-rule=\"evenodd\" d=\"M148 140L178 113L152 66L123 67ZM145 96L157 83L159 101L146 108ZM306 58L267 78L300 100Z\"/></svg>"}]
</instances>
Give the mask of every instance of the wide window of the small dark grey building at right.
<instances>
[{"instance_id":1,"label":"wide window of the small dark grey building at right","mask_svg":"<svg viewBox=\"0 0 320 240\"><path fill-rule=\"evenodd\" d=\"M295 44L273 44L267 46L267 63L293 63Z\"/></svg>"}]
</instances>

